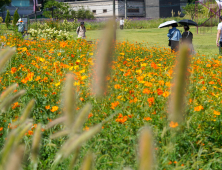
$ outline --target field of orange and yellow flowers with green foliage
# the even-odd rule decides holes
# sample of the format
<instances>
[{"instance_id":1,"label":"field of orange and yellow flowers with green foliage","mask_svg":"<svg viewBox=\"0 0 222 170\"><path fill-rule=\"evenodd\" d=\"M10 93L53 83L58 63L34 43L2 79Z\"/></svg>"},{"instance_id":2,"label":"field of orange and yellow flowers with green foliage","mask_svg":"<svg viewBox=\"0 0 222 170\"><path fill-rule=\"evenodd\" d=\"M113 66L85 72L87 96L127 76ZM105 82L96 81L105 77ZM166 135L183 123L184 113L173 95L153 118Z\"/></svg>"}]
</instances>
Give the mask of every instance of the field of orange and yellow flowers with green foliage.
<instances>
[{"instance_id":1,"label":"field of orange and yellow flowers with green foliage","mask_svg":"<svg viewBox=\"0 0 222 170\"><path fill-rule=\"evenodd\" d=\"M102 131L81 150L76 169L83 155L95 153L95 169L136 169L138 132L144 125L153 131L157 169L220 169L222 93L221 57L193 56L189 67L189 86L186 95L184 123L168 120L168 100L174 75L176 54L166 48L147 48L140 44L118 42L113 57L106 96L92 95L92 68L97 44L84 40L20 40L0 37L0 42L17 48L0 77L0 91L13 83L26 94L0 116L0 147L6 140L20 111L31 99L36 105L31 113L33 126L23 139L27 148L38 123L47 124L60 117L61 92L66 73L75 75L76 110L86 103L92 111L84 125L88 131L112 114ZM16 93L17 90L14 91ZM66 137L51 140L49 135L63 129L56 126L46 130L40 149L39 169L49 169L55 153ZM58 169L68 169L67 159ZM25 162L31 169L30 162Z\"/></svg>"}]
</instances>

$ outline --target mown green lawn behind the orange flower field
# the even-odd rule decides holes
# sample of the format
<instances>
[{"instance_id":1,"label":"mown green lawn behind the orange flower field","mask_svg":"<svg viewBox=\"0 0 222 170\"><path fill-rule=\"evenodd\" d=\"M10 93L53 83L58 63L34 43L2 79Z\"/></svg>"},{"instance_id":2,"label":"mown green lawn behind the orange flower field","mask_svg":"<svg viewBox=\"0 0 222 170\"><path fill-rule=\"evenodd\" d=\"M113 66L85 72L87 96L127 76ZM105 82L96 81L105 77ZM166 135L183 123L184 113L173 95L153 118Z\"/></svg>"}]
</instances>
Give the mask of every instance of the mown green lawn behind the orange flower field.
<instances>
[{"instance_id":1,"label":"mown green lawn behind the orange flower field","mask_svg":"<svg viewBox=\"0 0 222 170\"><path fill-rule=\"evenodd\" d=\"M183 30L182 27L179 30ZM216 46L217 27L212 28L206 33L197 34L195 27L191 28L194 34L193 44L195 51L201 55L215 55L218 54L218 47ZM149 46L168 47L168 28L158 29L125 29L118 30L117 40L129 41L138 43L148 43ZM74 34L74 33L73 33ZM75 34L74 34L75 36ZM87 40L96 40L101 37L101 30L87 31Z\"/></svg>"}]
</instances>

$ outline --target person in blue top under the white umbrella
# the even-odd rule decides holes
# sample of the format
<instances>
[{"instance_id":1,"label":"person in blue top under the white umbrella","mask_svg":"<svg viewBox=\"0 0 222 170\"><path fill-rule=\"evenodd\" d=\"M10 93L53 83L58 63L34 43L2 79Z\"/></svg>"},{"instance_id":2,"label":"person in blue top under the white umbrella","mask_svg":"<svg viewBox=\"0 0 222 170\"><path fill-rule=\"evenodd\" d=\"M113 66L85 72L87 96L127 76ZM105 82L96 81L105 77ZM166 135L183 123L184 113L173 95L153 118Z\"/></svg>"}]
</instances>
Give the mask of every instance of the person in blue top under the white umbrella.
<instances>
[{"instance_id":1,"label":"person in blue top under the white umbrella","mask_svg":"<svg viewBox=\"0 0 222 170\"><path fill-rule=\"evenodd\" d=\"M171 51L179 51L180 39L182 38L180 30L178 30L177 23L172 24L172 29L169 30L167 36L169 37L169 46L171 46Z\"/></svg>"}]
</instances>

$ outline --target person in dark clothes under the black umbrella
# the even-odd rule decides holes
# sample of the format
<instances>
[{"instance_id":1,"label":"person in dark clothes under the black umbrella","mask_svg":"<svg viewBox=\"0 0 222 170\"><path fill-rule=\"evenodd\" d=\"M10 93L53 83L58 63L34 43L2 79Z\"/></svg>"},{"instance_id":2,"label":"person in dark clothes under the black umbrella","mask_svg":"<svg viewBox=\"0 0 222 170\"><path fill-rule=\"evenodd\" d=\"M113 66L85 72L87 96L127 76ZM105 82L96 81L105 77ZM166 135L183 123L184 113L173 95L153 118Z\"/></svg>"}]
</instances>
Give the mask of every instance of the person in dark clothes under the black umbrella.
<instances>
[{"instance_id":1,"label":"person in dark clothes under the black umbrella","mask_svg":"<svg viewBox=\"0 0 222 170\"><path fill-rule=\"evenodd\" d=\"M182 43L186 43L189 46L190 53L194 54L194 48L193 48L193 34L189 31L190 27L185 25L184 26L184 33L182 34Z\"/></svg>"}]
</instances>

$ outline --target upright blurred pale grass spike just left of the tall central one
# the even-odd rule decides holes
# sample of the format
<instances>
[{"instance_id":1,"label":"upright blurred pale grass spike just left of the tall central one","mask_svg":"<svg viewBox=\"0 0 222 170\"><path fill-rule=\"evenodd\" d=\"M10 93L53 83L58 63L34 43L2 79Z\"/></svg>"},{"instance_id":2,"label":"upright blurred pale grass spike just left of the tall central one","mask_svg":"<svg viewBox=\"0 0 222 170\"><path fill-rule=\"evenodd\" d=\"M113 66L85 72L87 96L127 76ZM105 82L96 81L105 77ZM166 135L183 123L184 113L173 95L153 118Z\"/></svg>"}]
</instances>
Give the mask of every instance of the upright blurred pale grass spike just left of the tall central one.
<instances>
[{"instance_id":1,"label":"upright blurred pale grass spike just left of the tall central one","mask_svg":"<svg viewBox=\"0 0 222 170\"><path fill-rule=\"evenodd\" d=\"M66 76L65 88L64 88L64 112L66 124L68 128L71 128L75 117L75 91L74 91L74 75L68 74Z\"/></svg>"}]
</instances>

